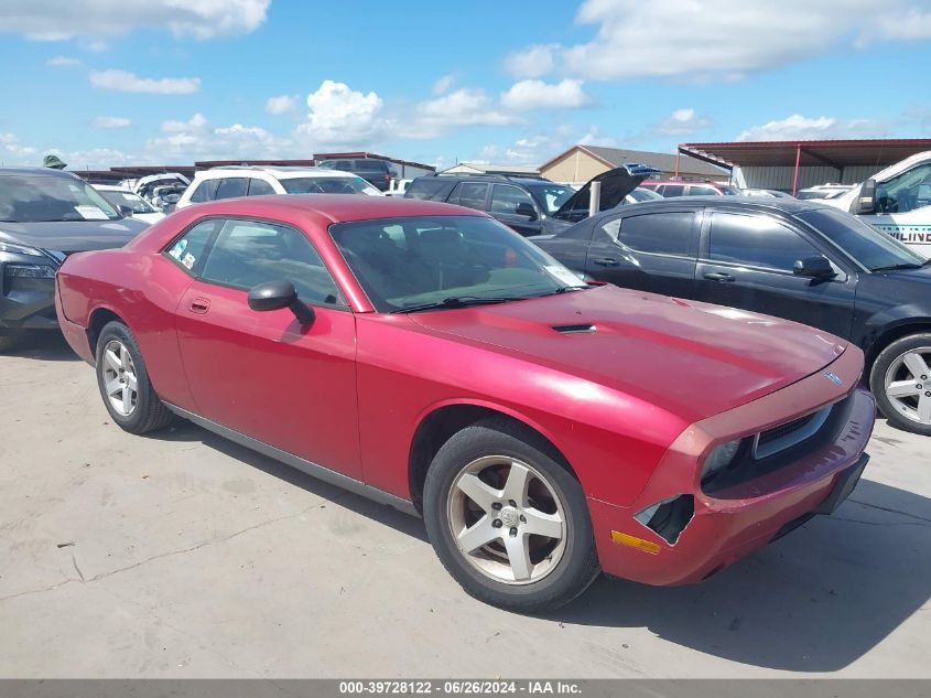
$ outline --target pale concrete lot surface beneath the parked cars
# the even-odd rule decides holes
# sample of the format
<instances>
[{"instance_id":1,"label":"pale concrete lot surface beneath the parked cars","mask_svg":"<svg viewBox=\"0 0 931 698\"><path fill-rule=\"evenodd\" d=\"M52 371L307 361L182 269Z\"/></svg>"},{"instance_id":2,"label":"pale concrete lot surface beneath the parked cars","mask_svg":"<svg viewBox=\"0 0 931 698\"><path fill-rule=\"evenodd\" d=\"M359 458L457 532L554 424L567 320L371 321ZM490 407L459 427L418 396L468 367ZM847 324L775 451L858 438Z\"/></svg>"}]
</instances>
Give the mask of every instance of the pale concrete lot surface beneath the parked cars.
<instances>
[{"instance_id":1,"label":"pale concrete lot surface beneath the parked cars","mask_svg":"<svg viewBox=\"0 0 931 698\"><path fill-rule=\"evenodd\" d=\"M466 597L420 520L181 422L109 423L57 337L0 356L0 676L931 677L931 440L694 587L551 618Z\"/></svg>"}]
</instances>

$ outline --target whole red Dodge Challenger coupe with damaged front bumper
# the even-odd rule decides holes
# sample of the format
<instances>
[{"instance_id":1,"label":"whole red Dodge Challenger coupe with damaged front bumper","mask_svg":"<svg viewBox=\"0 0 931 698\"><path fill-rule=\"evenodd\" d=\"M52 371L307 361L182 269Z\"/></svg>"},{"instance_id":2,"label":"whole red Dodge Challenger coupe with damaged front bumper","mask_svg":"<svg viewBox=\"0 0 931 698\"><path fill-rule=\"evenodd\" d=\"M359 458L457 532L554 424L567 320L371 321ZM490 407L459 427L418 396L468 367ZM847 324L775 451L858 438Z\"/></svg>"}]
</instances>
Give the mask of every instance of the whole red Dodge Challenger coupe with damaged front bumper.
<instances>
[{"instance_id":1,"label":"whole red Dodge Challenger coupe with damaged front bumper","mask_svg":"<svg viewBox=\"0 0 931 698\"><path fill-rule=\"evenodd\" d=\"M830 514L873 428L847 342L587 287L441 203L192 206L71 256L56 304L127 431L181 416L422 515L468 593L521 611L599 570L714 574Z\"/></svg>"}]
</instances>

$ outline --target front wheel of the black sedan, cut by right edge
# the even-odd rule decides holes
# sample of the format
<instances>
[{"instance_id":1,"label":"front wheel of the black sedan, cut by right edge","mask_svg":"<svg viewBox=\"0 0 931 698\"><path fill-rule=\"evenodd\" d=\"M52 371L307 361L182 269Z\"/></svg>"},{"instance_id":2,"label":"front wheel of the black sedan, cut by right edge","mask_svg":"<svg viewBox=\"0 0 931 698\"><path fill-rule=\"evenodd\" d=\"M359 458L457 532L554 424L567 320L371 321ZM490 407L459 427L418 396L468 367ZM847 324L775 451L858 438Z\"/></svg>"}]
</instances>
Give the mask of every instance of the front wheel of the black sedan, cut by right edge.
<instances>
[{"instance_id":1,"label":"front wheel of the black sedan, cut by right edge","mask_svg":"<svg viewBox=\"0 0 931 698\"><path fill-rule=\"evenodd\" d=\"M869 387L886 419L906 431L931 436L931 333L911 334L883 350Z\"/></svg>"}]
</instances>

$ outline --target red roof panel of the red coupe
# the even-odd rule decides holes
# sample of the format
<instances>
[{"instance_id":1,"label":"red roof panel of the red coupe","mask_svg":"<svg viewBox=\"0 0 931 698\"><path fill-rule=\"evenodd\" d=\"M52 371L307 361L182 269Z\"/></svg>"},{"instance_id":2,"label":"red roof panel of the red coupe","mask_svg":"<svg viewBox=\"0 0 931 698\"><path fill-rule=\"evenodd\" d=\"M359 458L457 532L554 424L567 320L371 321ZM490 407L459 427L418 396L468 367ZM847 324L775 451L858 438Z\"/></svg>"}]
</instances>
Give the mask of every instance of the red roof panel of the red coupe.
<instances>
[{"instance_id":1,"label":"red roof panel of the red coupe","mask_svg":"<svg viewBox=\"0 0 931 698\"><path fill-rule=\"evenodd\" d=\"M191 207L190 211L195 211ZM251 215L269 218L320 217L329 223L348 221L370 221L372 218L400 218L407 216L478 216L486 214L420 198L399 198L394 196L367 196L365 194L291 194L281 196L246 196L221 198L197 204L196 211L203 215Z\"/></svg>"}]
</instances>

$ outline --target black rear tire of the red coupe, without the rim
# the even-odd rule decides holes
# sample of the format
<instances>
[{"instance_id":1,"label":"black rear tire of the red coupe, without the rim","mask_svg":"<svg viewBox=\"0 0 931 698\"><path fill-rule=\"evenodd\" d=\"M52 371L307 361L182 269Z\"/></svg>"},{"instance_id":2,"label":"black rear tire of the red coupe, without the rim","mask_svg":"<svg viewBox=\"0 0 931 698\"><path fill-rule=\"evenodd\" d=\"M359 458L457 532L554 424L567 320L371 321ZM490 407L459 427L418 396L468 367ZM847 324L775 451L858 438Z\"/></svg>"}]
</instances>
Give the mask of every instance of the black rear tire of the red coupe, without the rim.
<instances>
[{"instance_id":1,"label":"black rear tire of the red coupe, without the rim","mask_svg":"<svg viewBox=\"0 0 931 698\"><path fill-rule=\"evenodd\" d=\"M104 352L108 344L112 341L120 342L129 352L136 372L137 379L137 400L134 409L129 416L125 416L117 411L107 396L105 373L105 356ZM149 373L145 371L145 363L142 359L142 352L139 351L139 344L129 327L118 321L108 322L100 331L100 336L97 339L97 387L100 389L100 397L104 399L104 406L110 414L110 418L125 431L130 433L145 433L155 429L166 427L174 419L174 414L171 412L155 395L152 388L152 383L149 380Z\"/></svg>"}]
</instances>

